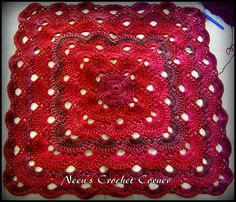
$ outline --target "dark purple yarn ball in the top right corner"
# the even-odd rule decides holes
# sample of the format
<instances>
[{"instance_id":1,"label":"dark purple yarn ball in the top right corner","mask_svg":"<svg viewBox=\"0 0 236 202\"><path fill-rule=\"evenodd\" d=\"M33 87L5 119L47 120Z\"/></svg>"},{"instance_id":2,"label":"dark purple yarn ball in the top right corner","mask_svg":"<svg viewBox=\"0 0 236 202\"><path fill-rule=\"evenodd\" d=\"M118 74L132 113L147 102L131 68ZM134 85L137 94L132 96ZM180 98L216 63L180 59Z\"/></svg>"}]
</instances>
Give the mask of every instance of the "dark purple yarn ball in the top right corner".
<instances>
[{"instance_id":1,"label":"dark purple yarn ball in the top right corner","mask_svg":"<svg viewBox=\"0 0 236 202\"><path fill-rule=\"evenodd\" d=\"M234 26L234 2L203 2L206 9L220 16L227 24Z\"/></svg>"}]
</instances>

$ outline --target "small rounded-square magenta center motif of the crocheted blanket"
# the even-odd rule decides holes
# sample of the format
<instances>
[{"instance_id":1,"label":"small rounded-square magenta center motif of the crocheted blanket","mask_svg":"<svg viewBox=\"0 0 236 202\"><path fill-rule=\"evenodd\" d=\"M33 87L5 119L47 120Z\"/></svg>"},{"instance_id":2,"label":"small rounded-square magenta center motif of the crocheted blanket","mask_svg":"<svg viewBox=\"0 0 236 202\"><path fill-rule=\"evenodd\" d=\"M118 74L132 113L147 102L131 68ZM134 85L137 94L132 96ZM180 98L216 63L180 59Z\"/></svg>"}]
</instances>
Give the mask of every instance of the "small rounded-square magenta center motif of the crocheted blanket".
<instances>
[{"instance_id":1,"label":"small rounded-square magenta center motif of the crocheted blanket","mask_svg":"<svg viewBox=\"0 0 236 202\"><path fill-rule=\"evenodd\" d=\"M134 83L127 76L108 74L100 82L100 99L108 105L123 105L134 97Z\"/></svg>"}]
</instances>

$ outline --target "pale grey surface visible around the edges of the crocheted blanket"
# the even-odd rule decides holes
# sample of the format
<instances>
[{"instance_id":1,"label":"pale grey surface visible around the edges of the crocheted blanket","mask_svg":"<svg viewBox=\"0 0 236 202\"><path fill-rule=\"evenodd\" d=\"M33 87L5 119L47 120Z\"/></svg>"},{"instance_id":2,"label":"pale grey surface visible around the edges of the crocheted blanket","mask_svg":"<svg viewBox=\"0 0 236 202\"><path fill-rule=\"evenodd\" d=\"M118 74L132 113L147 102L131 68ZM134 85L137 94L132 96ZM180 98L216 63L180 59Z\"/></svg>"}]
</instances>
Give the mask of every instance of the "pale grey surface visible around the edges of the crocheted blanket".
<instances>
[{"instance_id":1,"label":"pale grey surface visible around the edges of the crocheted blanket","mask_svg":"<svg viewBox=\"0 0 236 202\"><path fill-rule=\"evenodd\" d=\"M8 68L8 60L15 52L15 46L13 37L18 29L18 20L17 17L21 11L23 11L27 5L33 2L5 2L2 4L2 147L7 139L7 128L5 125L5 113L8 111L10 107L10 102L7 94L7 84L10 79L10 71ZM54 2L39 2L43 5L50 5ZM77 4L78 2L66 2L67 4ZM132 5L134 2L96 2L96 4L104 5L104 4L122 4L122 5ZM150 2L154 3L154 2ZM158 3L158 2L155 2ZM177 6L192 6L202 9L202 5L199 2L175 2ZM220 72L223 66L230 60L230 56L228 56L225 52L226 48L231 46L231 27L223 22L223 20L209 13L215 20L217 20L221 25L224 26L225 30L221 30L212 24L210 21L206 22L206 29L210 34L210 51L217 58L217 69ZM227 135L230 138L232 144L232 154L230 156L230 168L234 172L234 58L231 63L226 68L225 72L219 75L219 78L222 80L224 84L224 94L222 97L223 107L227 111L229 115L229 121L227 123ZM5 158L2 156L2 171L5 169ZM2 185L2 195L4 199L18 199L18 200L32 200L32 199L42 199L39 194L28 194L25 196L13 196L11 195ZM234 181L228 186L227 190L224 194L220 196L210 196L200 194L191 198L194 199L233 199L234 195ZM77 197L74 195L63 195L59 198L59 200L65 199L76 199ZM97 195L91 199L136 199L136 200L148 200L149 198L142 195L131 195L126 198L118 198L112 196L104 196ZM178 199L178 200L189 200L178 195L166 194L165 196L159 198L162 200L168 199ZM48 199L47 199L48 200ZM149 199L152 200L152 199ZM157 199L153 199L157 200Z\"/></svg>"}]
</instances>

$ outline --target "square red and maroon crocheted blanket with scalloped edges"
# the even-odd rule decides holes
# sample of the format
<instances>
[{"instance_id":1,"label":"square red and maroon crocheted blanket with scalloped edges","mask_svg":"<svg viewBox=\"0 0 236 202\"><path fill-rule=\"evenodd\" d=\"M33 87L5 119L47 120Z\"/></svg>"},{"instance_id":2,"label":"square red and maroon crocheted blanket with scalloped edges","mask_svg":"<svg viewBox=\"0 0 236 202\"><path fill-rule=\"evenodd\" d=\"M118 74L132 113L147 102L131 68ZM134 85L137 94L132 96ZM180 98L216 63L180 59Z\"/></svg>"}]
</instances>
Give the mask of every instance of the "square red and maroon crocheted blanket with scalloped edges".
<instances>
[{"instance_id":1,"label":"square red and maroon crocheted blanket with scalloped edges","mask_svg":"<svg viewBox=\"0 0 236 202\"><path fill-rule=\"evenodd\" d=\"M223 85L199 9L29 5L10 59L14 195L219 195L232 181Z\"/></svg>"}]
</instances>

